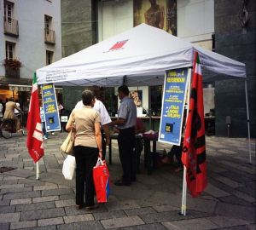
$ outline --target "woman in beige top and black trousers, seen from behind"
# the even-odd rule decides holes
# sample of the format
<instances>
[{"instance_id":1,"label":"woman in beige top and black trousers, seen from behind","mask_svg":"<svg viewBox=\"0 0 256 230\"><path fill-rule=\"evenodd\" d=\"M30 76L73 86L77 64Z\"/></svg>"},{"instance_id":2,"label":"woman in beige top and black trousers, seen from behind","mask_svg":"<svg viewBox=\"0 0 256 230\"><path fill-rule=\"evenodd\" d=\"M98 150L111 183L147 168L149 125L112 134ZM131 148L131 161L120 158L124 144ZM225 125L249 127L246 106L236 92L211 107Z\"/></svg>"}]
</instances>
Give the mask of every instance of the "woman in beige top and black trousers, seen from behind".
<instances>
[{"instance_id":1,"label":"woman in beige top and black trousers, seen from behind","mask_svg":"<svg viewBox=\"0 0 256 230\"><path fill-rule=\"evenodd\" d=\"M94 203L93 167L97 158L102 158L101 115L93 109L95 95L90 90L82 93L84 106L74 108L67 121L66 129L75 132L74 156L76 158L76 208L86 210L97 207ZM85 184L85 204L84 204Z\"/></svg>"}]
</instances>

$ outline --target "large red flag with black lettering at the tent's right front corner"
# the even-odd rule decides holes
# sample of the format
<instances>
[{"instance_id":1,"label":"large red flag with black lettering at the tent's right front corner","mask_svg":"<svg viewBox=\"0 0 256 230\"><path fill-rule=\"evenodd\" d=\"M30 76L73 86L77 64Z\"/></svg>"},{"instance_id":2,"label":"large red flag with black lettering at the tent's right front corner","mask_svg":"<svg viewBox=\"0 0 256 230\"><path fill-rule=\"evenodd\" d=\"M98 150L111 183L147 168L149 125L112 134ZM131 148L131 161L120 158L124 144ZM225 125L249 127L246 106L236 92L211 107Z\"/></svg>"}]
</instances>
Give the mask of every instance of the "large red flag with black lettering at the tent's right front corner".
<instances>
[{"instance_id":1,"label":"large red flag with black lettering at the tent's right front corner","mask_svg":"<svg viewBox=\"0 0 256 230\"><path fill-rule=\"evenodd\" d=\"M195 52L189 115L184 132L182 161L187 168L187 184L193 197L207 187L206 136L200 59Z\"/></svg>"}]
</instances>

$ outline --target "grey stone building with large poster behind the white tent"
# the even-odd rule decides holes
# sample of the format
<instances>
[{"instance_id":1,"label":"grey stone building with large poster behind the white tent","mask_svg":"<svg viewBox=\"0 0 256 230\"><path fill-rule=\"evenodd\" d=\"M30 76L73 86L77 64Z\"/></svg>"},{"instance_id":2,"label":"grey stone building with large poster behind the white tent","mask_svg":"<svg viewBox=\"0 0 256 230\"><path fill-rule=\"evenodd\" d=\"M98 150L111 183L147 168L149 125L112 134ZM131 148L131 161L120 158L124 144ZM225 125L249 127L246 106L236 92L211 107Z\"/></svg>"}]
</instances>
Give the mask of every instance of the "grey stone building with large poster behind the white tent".
<instances>
[{"instance_id":1,"label":"grey stone building with large poster behind the white tent","mask_svg":"<svg viewBox=\"0 0 256 230\"><path fill-rule=\"evenodd\" d=\"M125 32L140 23L159 27L177 37L191 43L201 45L209 50L216 50L222 55L239 60L247 64L247 82L249 106L251 112L251 134L255 136L255 3L253 1L234 1L230 5L227 0L79 0L72 3L76 9L70 13L71 1L61 1L61 14L65 14L65 30L62 31L62 47L64 55L71 55L80 49L101 42L120 32ZM245 5L244 5L245 3ZM241 26L241 16L244 7L249 15L249 22ZM231 19L231 20L230 20ZM76 26L72 23L76 22ZM83 23L84 22L84 23ZM62 18L63 23L63 18ZM73 36L76 35L76 36ZM84 37L84 39L79 39ZM64 42L63 42L64 44ZM254 61L254 62L253 62ZM246 101L243 81L226 80L221 82L207 82L206 116L215 118L215 134L227 135L227 117L231 118L230 135L247 136ZM80 95L73 95L72 89L66 89L63 95L68 99L67 107L73 108L73 103ZM78 89L78 92L81 89ZM143 109L148 112L150 103L151 113L160 115L161 85L155 87L136 87L137 93L143 97ZM110 94L109 94L110 92ZM151 92L151 94L148 92ZM224 96L229 93L229 96ZM109 95L108 95L109 94ZM108 89L107 99L117 101L116 89ZM106 98L105 98L106 99ZM70 102L72 101L72 102ZM235 102L234 102L235 101ZM105 101L108 105L108 100ZM117 106L117 103L116 105ZM108 111L115 112L111 104Z\"/></svg>"}]
</instances>

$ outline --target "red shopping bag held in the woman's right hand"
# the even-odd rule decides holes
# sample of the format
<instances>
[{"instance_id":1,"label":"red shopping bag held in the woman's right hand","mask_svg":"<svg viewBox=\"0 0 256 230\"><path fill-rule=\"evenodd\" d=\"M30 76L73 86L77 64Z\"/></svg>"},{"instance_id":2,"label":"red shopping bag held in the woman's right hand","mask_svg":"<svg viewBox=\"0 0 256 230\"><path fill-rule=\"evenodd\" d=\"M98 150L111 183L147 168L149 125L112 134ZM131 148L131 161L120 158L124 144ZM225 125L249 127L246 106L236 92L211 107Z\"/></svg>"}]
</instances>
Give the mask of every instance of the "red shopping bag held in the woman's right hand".
<instances>
[{"instance_id":1,"label":"red shopping bag held in the woman's right hand","mask_svg":"<svg viewBox=\"0 0 256 230\"><path fill-rule=\"evenodd\" d=\"M93 181L98 203L106 203L109 196L109 172L105 160L98 158L93 167Z\"/></svg>"}]
</instances>

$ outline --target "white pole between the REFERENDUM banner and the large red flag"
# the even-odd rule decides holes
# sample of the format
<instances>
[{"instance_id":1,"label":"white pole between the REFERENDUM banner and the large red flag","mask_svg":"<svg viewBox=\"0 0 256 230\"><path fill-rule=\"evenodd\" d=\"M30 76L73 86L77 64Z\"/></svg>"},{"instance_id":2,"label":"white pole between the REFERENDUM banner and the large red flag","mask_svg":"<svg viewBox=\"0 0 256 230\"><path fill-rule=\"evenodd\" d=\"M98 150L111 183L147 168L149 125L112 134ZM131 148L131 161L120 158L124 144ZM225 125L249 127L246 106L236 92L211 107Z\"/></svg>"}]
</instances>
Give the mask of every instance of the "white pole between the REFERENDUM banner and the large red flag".
<instances>
[{"instance_id":1,"label":"white pole between the REFERENDUM banner and the large red flag","mask_svg":"<svg viewBox=\"0 0 256 230\"><path fill-rule=\"evenodd\" d=\"M191 88L191 74L189 75L188 78L188 90L187 90L187 106L186 106L186 124L187 124L187 119L189 116L189 95L190 95L190 88ZM185 165L183 165L183 198L182 198L182 206L181 206L181 214L183 216L186 216L186 210L187 210L187 182L186 182L186 175L187 175L187 168Z\"/></svg>"}]
</instances>

